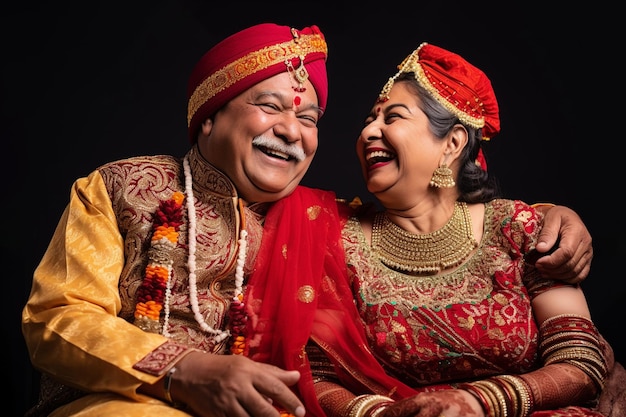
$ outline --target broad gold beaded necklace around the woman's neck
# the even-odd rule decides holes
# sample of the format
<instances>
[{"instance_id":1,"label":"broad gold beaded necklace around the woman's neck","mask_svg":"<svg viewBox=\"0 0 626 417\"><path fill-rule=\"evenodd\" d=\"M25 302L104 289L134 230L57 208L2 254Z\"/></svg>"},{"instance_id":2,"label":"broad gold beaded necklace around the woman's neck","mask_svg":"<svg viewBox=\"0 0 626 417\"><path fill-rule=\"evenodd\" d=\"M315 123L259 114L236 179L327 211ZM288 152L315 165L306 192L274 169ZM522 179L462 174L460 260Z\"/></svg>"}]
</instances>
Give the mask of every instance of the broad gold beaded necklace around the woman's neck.
<instances>
[{"instance_id":1,"label":"broad gold beaded necklace around the woman's neck","mask_svg":"<svg viewBox=\"0 0 626 417\"><path fill-rule=\"evenodd\" d=\"M389 268L434 275L460 265L478 247L466 203L456 202L448 222L433 233L416 235L377 213L372 226L372 250Z\"/></svg>"}]
</instances>

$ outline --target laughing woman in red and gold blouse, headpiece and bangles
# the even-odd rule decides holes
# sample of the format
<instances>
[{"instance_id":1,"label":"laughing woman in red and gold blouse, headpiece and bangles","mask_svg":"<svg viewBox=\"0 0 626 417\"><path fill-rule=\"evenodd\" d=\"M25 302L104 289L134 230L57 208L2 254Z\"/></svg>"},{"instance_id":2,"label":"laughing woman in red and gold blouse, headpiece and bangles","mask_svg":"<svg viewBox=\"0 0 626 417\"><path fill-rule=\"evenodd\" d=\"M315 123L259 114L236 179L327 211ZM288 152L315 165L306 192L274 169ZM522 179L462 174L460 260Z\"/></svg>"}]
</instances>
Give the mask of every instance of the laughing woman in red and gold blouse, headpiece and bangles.
<instances>
[{"instance_id":1,"label":"laughing woman in red and gold blouse, headpiece and bangles","mask_svg":"<svg viewBox=\"0 0 626 417\"><path fill-rule=\"evenodd\" d=\"M531 261L542 213L500 198L487 172L481 142L500 128L489 79L426 43L399 69L356 144L384 210L343 229L367 344L385 375L318 340L326 356L309 351L322 408L349 417L602 415L594 406L611 349L581 288L543 278Z\"/></svg>"}]
</instances>

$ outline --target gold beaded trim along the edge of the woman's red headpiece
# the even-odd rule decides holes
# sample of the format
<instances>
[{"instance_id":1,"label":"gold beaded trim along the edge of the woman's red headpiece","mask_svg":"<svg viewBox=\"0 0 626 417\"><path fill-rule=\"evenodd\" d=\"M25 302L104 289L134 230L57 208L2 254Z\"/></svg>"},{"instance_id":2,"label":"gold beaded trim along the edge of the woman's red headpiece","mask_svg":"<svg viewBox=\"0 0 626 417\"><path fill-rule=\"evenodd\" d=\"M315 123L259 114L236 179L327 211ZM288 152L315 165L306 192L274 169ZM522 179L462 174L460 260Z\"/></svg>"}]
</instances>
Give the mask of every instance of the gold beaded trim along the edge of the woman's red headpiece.
<instances>
[{"instance_id":1,"label":"gold beaded trim along the edge of the woman's red headpiece","mask_svg":"<svg viewBox=\"0 0 626 417\"><path fill-rule=\"evenodd\" d=\"M426 42L422 43L415 51L413 51L413 53L411 53L411 55L406 57L404 61L402 61L402 63L398 65L399 71L396 73L396 75L389 78L389 80L381 90L380 94L378 95L378 101L385 102L389 100L389 93L391 92L391 88L393 87L394 82L400 76L400 74L412 72L413 74L415 74L415 79L417 80L417 82L422 87L424 87L435 100L437 100L442 106L444 106L446 110L458 117L461 122L467 124L470 127L473 127L474 129L480 129L485 126L484 117L474 117L468 114L468 112L482 114L481 108L483 104L478 98L475 99L476 103L474 103L474 105L472 105L472 103L470 102L465 103L464 108L467 109L467 112L465 112L448 100L448 98L454 96L456 93L452 88L439 83L439 85L442 85L443 88L448 90L447 92L449 93L449 95L447 97L444 97L441 94L441 91L433 86L432 82L429 80L429 76L424 71L424 68L419 60L420 50L425 45L427 45Z\"/></svg>"}]
</instances>

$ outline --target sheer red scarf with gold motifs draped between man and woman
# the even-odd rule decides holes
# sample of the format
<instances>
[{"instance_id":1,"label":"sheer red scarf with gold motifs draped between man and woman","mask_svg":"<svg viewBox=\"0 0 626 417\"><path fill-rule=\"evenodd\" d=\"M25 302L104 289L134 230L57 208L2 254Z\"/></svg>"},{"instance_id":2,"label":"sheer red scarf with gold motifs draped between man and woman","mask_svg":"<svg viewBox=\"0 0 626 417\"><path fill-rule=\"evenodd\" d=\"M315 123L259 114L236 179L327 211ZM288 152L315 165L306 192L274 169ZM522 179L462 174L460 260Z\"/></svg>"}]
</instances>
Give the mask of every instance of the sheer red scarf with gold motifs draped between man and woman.
<instances>
[{"instance_id":1,"label":"sheer red scarf with gold motifs draped between man and woman","mask_svg":"<svg viewBox=\"0 0 626 417\"><path fill-rule=\"evenodd\" d=\"M246 355L300 371L296 391L307 415L323 417L305 346L312 337L340 364L355 393L400 398L414 390L385 374L367 347L348 284L335 194L298 186L268 211L248 282ZM399 397L398 397L399 396Z\"/></svg>"}]
</instances>

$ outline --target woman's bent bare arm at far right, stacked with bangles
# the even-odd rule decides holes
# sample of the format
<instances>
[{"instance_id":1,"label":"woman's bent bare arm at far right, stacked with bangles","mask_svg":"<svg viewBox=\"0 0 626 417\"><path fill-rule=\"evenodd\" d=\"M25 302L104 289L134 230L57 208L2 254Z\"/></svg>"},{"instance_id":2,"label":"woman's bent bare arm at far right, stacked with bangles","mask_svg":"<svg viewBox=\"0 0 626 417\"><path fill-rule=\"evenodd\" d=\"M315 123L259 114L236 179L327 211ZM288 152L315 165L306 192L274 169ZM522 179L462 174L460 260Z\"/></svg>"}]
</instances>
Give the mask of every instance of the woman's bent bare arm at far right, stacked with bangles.
<instances>
[{"instance_id":1,"label":"woman's bent bare arm at far right, stacked with bangles","mask_svg":"<svg viewBox=\"0 0 626 417\"><path fill-rule=\"evenodd\" d=\"M498 375L461 384L486 414L527 415L533 410L590 406L607 376L604 346L580 287L559 286L532 301L543 366L521 375Z\"/></svg>"}]
</instances>

